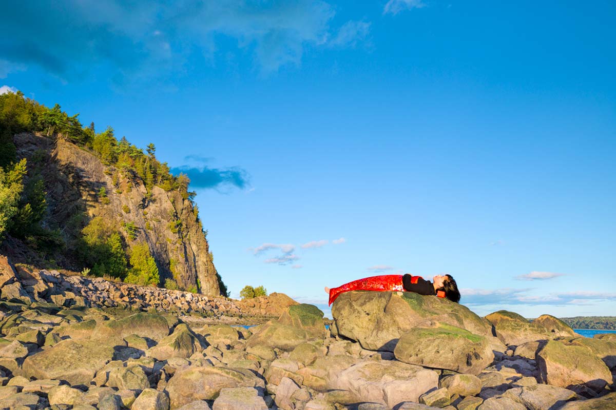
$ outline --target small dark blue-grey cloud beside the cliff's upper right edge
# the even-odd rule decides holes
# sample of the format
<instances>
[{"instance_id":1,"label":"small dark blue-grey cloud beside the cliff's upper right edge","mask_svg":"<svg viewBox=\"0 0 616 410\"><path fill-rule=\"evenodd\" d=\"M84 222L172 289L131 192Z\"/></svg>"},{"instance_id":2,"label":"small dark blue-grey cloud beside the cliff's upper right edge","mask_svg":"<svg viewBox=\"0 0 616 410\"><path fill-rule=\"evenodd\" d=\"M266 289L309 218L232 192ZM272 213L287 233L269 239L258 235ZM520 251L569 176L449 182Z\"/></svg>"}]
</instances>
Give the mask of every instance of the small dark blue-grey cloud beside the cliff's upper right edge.
<instances>
[{"instance_id":1,"label":"small dark blue-grey cloud beside the cliff's upper right edge","mask_svg":"<svg viewBox=\"0 0 616 410\"><path fill-rule=\"evenodd\" d=\"M195 188L219 189L224 186L235 186L246 189L249 186L248 173L239 167L208 168L185 165L171 168L171 173L174 175L186 174L190 179L190 186Z\"/></svg>"}]
</instances>

